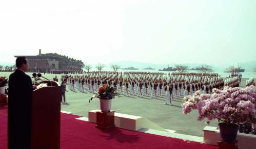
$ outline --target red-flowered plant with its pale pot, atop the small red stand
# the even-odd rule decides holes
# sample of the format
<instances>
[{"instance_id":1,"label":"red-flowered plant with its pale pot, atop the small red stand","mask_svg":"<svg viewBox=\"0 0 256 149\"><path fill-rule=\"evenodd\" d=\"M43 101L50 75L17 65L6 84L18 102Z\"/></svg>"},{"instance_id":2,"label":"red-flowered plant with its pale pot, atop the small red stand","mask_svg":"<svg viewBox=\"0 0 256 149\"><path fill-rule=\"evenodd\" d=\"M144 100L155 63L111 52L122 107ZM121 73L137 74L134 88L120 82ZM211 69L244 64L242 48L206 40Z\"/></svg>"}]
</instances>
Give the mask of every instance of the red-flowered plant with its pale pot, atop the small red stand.
<instances>
[{"instance_id":1,"label":"red-flowered plant with its pale pot, atop the small red stand","mask_svg":"<svg viewBox=\"0 0 256 149\"><path fill-rule=\"evenodd\" d=\"M97 91L96 94L90 98L89 103L92 101L94 97L100 98L100 106L102 112L109 112L111 110L112 99L115 98L116 95L119 96L119 94L116 93L115 90L115 87L103 85L99 88L99 91Z\"/></svg>"}]
</instances>

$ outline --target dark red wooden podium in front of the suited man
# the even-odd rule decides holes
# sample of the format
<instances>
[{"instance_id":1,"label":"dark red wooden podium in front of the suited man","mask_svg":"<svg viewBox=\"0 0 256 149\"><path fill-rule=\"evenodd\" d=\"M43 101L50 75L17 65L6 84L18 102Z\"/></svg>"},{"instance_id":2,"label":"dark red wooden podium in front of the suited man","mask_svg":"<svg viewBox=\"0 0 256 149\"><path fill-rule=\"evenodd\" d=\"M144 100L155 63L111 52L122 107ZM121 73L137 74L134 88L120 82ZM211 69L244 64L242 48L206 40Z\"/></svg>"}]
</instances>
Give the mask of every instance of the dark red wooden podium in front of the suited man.
<instances>
[{"instance_id":1,"label":"dark red wooden podium in front of the suited man","mask_svg":"<svg viewBox=\"0 0 256 149\"><path fill-rule=\"evenodd\" d=\"M31 149L59 149L61 141L61 87L53 81L32 93ZM51 86L50 86L51 85Z\"/></svg>"}]
</instances>

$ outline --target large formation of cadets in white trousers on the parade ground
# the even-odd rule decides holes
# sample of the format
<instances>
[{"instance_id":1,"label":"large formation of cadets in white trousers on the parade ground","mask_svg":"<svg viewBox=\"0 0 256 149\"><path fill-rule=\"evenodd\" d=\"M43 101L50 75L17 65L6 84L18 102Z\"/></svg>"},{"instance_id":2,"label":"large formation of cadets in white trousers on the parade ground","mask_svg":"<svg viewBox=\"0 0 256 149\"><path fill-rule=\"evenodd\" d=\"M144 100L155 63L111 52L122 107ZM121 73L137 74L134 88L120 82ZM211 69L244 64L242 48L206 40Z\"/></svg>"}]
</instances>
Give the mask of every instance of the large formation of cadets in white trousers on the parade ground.
<instances>
[{"instance_id":1,"label":"large formation of cadets in white trousers on the parade ground","mask_svg":"<svg viewBox=\"0 0 256 149\"><path fill-rule=\"evenodd\" d=\"M101 86L107 84L117 88L120 94L138 97L150 96L166 97L165 104L171 104L171 99L193 94L200 90L202 93L212 93L213 88L222 89L224 81L218 75L195 75L183 73L183 75L163 74L158 72L112 72L93 71L83 75L63 75L61 81L65 81L70 90L95 93Z\"/></svg>"}]
</instances>

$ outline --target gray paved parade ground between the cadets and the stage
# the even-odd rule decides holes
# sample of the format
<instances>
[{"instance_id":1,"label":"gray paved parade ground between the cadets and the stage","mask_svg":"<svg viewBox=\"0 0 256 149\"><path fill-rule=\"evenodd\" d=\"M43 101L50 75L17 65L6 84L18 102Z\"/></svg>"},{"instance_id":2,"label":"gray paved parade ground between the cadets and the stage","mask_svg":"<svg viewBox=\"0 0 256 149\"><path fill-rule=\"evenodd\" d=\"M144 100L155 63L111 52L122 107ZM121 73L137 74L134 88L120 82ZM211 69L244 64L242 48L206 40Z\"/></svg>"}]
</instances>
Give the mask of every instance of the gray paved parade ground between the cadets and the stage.
<instances>
[{"instance_id":1,"label":"gray paved parade ground between the cadets and the stage","mask_svg":"<svg viewBox=\"0 0 256 149\"><path fill-rule=\"evenodd\" d=\"M9 76L10 73L0 72L0 76ZM30 74L30 73L29 73ZM32 75L31 75L32 76ZM55 74L46 74L45 77L52 79ZM60 79L60 75L57 75ZM241 86L245 86L245 80L242 80ZM89 98L92 93L73 92L67 89L66 98L70 104L62 105L63 111L72 112L75 115L88 117L88 111L100 109L98 98L94 98L89 104ZM175 130L177 133L203 136L202 129L206 126L205 121L198 121L198 111L194 110L190 114L182 113L182 98L173 100L173 105L164 105L165 98L149 98L149 97L116 97L112 101L112 110L117 113L142 116L164 129ZM210 126L218 126L218 121L212 121Z\"/></svg>"}]
</instances>

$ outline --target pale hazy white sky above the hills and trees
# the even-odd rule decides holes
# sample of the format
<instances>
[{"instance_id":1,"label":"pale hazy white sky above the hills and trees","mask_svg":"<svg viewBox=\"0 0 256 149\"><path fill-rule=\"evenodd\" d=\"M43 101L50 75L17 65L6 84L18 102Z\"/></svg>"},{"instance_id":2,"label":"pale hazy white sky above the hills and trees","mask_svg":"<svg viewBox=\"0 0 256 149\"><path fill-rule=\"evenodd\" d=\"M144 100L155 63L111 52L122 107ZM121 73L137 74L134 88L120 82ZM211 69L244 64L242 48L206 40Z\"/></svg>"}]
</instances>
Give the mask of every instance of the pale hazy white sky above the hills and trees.
<instances>
[{"instance_id":1,"label":"pale hazy white sky above the hills and trees","mask_svg":"<svg viewBox=\"0 0 256 149\"><path fill-rule=\"evenodd\" d=\"M255 61L256 1L0 1L0 62L58 53L84 63Z\"/></svg>"}]
</instances>

